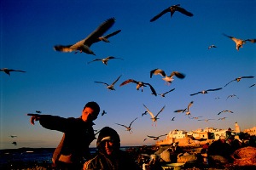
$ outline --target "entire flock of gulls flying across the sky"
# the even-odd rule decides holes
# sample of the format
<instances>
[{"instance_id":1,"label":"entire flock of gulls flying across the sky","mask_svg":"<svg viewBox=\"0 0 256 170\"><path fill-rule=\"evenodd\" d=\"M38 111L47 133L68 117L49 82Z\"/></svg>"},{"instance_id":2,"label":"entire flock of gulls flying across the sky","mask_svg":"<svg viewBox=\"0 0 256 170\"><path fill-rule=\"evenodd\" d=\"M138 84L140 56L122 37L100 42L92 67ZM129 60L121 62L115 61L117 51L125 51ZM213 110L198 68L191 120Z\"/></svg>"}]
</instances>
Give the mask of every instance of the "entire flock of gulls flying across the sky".
<instances>
[{"instance_id":1,"label":"entire flock of gulls flying across the sky","mask_svg":"<svg viewBox=\"0 0 256 170\"><path fill-rule=\"evenodd\" d=\"M184 14L186 16L189 16L189 17L192 17L194 14L192 14L191 12L189 12L188 10L186 10L185 8L182 8L180 6L180 4L177 4L177 5L172 5L171 7L168 7L168 8L165 8L164 10L160 11L159 14L156 14L151 20L150 22L154 22L156 20L159 20L160 17L162 17L164 14L168 14L170 13L171 14L171 18L173 16L173 14L175 14L176 12L179 12L181 14ZM70 45L55 45L54 46L54 49L55 51L58 51L58 52L64 52L64 53L70 53L70 52L74 52L75 54L77 53L85 53L85 54L91 54L91 55L96 55L94 53L94 51L92 51L91 49L91 46L96 43L96 42L110 42L109 41L109 38L113 37L113 36L117 36L121 30L117 30L117 31L113 31L112 33L104 36L104 34L113 26L115 22L115 19L114 18L110 18L108 20L105 20L100 26L98 26L96 28L96 30L92 31L90 33L90 35L88 35L87 37L85 37L83 40L79 41L79 42L76 42L74 44L70 44ZM245 39L245 40L242 40L242 39L238 39L236 37L230 37L226 34L224 34L224 37L228 37L230 38L232 41L234 41L236 43L236 49L239 50L240 48L242 48L242 45L244 45L246 42L256 42L256 39ZM210 48L217 48L217 46L215 45L211 45L208 47L208 49ZM93 62L96 62L96 61L102 61L102 63L104 65L108 65L108 61L110 59L122 59L122 58L116 58L116 57L113 57L113 56L108 56L107 58L104 58L104 59L93 59L91 60L90 62L88 62L88 64L90 63L93 63ZM4 73L8 74L10 76L10 72L12 71L16 71L16 72L22 72L22 73L25 73L26 71L20 71L20 70L14 70L14 69L8 69L8 68L3 68L1 69L0 71L3 71ZM163 71L159 68L156 68L156 69L153 69L151 71L148 71L149 73L149 77L152 78L153 76L157 76L157 75L160 75L160 77L162 77L162 80L166 82L166 85L170 85L172 84L174 78L179 78L179 79L183 79L185 78L185 74L184 73L181 73L179 71L170 71L171 74L166 74L166 71ZM122 77L122 75L120 75L119 77L117 77L113 82L101 82L101 81L95 81L95 83L101 83L103 85L106 86L106 88L108 88L108 90L115 90L114 86L117 82L119 82L119 79L120 77ZM254 78L253 76L246 76L246 77L236 77L235 79L231 80L230 82L226 83L224 85L224 88L226 86L228 86L231 82L240 82L242 79L247 79L247 78ZM137 80L134 80L132 78L129 78L127 80L125 80L124 82L121 82L119 84L119 87L122 87L124 85L127 85L127 84L130 84L130 83L134 83L136 84L136 89L139 90L141 89L141 91L143 92L143 88L147 88L149 87L150 90L151 90L151 94L153 94L154 96L161 96L161 97L166 97L166 94L169 94L171 93L172 91L175 90L175 88L172 88L170 89L169 91L165 92L165 93L161 93L161 94L158 94L155 90L155 88L148 82L142 82L142 81L137 81ZM252 88L253 86L255 86L255 84L251 85L249 88ZM190 94L190 96L194 96L194 95L197 95L197 94L208 94L209 92L214 92L214 91L218 91L218 90L221 90L223 88L211 88L211 89L207 89L207 90L201 90L201 91L198 91L194 94ZM232 94L230 96L227 97L227 99L229 98L232 98L232 97L236 97L237 99L239 99L236 94ZM191 101L189 103L189 105L187 105L184 109L179 109L179 110L176 110L174 112L176 113L185 113L186 116L189 116L190 119L195 119L197 121L205 121L205 122L208 122L210 120L214 120L214 119L200 119L202 116L192 116L191 115L191 110L190 110L190 107L194 104L194 101ZM160 116L160 113L162 111L164 111L166 105L164 105L160 111L158 111L157 114L154 114L152 111L150 111L148 109L148 107L146 105L143 105L144 108L145 108L145 112L143 112L142 116L145 116L145 115L149 115L150 116L150 119L152 120L152 126L153 126L153 123L155 123L155 126L156 126L156 122L157 120L159 119L159 116ZM224 113L224 112L230 112L230 113L233 113L233 111L228 111L228 110L224 110L224 111L220 111L218 112L218 115ZM103 111L102 112L102 116L107 114L106 111ZM221 117L219 118L218 120L224 120L225 118L227 117ZM172 117L172 121L174 121L175 119L175 116ZM124 124L120 124L120 123L116 123L117 125L119 126L122 126L122 127L125 127L125 129L129 132L129 133L132 133L131 129L131 124L133 122L135 122L137 120L137 117L129 124L129 126L126 126ZM160 135L160 136L154 136L154 135L147 135L148 138L152 138L154 140L158 140L160 137L162 136L166 136L167 134L163 134L163 135ZM15 136L11 136L12 138L14 138ZM146 139L144 139L145 141ZM13 143L13 144L16 144L16 143Z\"/></svg>"}]
</instances>

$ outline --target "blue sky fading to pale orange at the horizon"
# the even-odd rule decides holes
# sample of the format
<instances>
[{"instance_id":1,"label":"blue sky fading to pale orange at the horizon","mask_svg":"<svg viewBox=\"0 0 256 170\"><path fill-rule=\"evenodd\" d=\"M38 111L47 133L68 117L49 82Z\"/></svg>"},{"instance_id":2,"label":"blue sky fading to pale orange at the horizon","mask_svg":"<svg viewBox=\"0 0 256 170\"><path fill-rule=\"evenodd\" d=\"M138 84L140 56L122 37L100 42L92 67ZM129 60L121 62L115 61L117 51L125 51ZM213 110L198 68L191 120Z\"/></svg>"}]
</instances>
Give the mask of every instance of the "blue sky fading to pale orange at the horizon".
<instances>
[{"instance_id":1,"label":"blue sky fading to pale orange at the horizon","mask_svg":"<svg viewBox=\"0 0 256 170\"><path fill-rule=\"evenodd\" d=\"M155 14L175 4L194 14L188 17L176 12L149 22ZM0 149L17 147L56 147L61 133L44 129L37 122L32 126L26 113L42 111L63 117L79 117L84 104L96 101L107 111L95 121L95 129L109 126L116 129L122 145L154 144L153 139L143 142L147 135L158 136L174 129L195 130L217 127L232 129L238 122L241 129L253 127L255 117L255 78L231 82L236 77L255 76L256 44L247 42L239 51L236 44L223 33L241 39L256 38L256 1L56 1L26 0L1 1L0 67L26 71L0 72L1 89L1 140ZM90 48L96 56L56 52L56 44L73 44L87 37L104 20L114 17L115 23L108 33L122 30L109 38L110 42L97 42ZM217 48L208 49L210 45ZM109 55L108 65L97 61ZM149 72L160 68L170 74L180 71L184 79L174 77L172 85L165 84L159 75L152 78ZM95 83L113 82L115 91ZM127 79L149 82L158 94L172 88L165 98L155 97L149 88L136 90L136 84L119 87ZM209 94L201 90L223 88ZM227 97L236 94L239 99ZM220 99L215 99L219 97ZM204 122L189 119L183 113L190 101L191 116L215 120ZM147 105L159 115L157 126L150 116L141 116ZM234 113L219 111L230 110ZM175 116L175 121L171 121ZM218 118L226 116L224 121ZM132 124L133 133L115 123ZM9 135L17 135L11 139ZM160 139L164 139L162 137ZM17 142L17 146L11 144ZM96 140L91 146L96 145Z\"/></svg>"}]
</instances>

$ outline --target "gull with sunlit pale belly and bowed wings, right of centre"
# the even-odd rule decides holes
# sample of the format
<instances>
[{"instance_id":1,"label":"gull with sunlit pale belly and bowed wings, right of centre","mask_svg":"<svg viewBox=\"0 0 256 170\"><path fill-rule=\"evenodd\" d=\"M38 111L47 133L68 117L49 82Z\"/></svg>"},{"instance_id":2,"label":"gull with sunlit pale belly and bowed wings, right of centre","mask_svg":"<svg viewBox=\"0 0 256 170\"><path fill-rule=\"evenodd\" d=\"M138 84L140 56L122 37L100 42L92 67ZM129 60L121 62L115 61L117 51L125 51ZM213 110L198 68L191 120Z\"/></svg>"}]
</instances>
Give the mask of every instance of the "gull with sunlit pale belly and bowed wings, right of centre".
<instances>
[{"instance_id":1,"label":"gull with sunlit pale belly and bowed wings, right of centre","mask_svg":"<svg viewBox=\"0 0 256 170\"><path fill-rule=\"evenodd\" d=\"M171 84L172 81L174 80L173 77L177 77L177 78L180 78L180 79L183 79L185 77L185 75L181 72L178 72L178 71L172 71L171 75L170 76L166 76L166 72L161 70L161 69L154 69L152 71L150 71L150 78L152 78L153 75L160 75L161 77L164 77L162 78L167 84Z\"/></svg>"}]
</instances>

